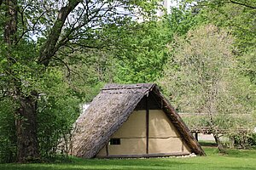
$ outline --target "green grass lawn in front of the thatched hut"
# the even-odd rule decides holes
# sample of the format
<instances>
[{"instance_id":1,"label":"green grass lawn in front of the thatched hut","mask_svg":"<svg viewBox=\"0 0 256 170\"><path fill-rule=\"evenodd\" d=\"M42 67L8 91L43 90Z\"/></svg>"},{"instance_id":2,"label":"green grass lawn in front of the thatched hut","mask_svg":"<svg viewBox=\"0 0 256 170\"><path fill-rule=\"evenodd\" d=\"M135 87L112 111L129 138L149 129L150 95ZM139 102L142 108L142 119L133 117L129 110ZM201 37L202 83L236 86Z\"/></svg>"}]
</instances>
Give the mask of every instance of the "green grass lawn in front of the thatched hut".
<instances>
[{"instance_id":1,"label":"green grass lawn in front of the thatched hut","mask_svg":"<svg viewBox=\"0 0 256 170\"><path fill-rule=\"evenodd\" d=\"M207 156L189 158L91 159L73 158L70 163L0 164L1 170L83 170L83 169L200 169L256 170L256 150L228 150L218 155L216 148L204 147Z\"/></svg>"}]
</instances>

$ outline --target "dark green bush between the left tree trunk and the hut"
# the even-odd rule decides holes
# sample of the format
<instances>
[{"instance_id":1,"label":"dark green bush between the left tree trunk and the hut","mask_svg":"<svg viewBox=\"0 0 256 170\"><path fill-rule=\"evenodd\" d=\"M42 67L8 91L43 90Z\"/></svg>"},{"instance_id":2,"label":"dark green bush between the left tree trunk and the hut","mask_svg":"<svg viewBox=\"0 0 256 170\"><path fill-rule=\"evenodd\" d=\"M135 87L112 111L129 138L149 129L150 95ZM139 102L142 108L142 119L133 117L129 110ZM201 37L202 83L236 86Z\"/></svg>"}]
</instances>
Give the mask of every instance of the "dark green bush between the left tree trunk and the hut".
<instances>
[{"instance_id":1,"label":"dark green bush between the left tree trunk and the hut","mask_svg":"<svg viewBox=\"0 0 256 170\"><path fill-rule=\"evenodd\" d=\"M38 142L43 158L55 158L60 139L68 140L80 113L80 102L70 91L61 71L46 72L44 94L39 94L38 99Z\"/></svg>"}]
</instances>

